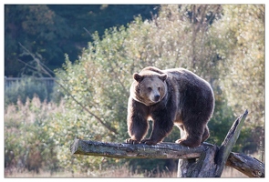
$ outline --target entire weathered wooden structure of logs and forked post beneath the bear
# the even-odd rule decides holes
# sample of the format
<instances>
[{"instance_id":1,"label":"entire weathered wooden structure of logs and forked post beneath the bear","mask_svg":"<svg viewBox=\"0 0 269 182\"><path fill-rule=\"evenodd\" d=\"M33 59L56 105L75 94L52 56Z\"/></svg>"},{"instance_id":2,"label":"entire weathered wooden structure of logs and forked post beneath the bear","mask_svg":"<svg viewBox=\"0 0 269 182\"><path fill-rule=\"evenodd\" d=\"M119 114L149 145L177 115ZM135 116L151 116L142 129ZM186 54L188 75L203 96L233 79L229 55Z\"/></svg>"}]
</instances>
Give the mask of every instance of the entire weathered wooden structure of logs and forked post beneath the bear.
<instances>
[{"instance_id":1,"label":"entire weathered wooden structure of logs and forked post beneath the bear","mask_svg":"<svg viewBox=\"0 0 269 182\"><path fill-rule=\"evenodd\" d=\"M248 177L264 177L264 163L243 154L231 153L247 111L233 123L221 147L204 142L199 147L183 147L175 143L131 145L75 139L72 154L119 158L180 159L178 177L221 177L224 166L233 167ZM227 161L227 162L226 162Z\"/></svg>"}]
</instances>

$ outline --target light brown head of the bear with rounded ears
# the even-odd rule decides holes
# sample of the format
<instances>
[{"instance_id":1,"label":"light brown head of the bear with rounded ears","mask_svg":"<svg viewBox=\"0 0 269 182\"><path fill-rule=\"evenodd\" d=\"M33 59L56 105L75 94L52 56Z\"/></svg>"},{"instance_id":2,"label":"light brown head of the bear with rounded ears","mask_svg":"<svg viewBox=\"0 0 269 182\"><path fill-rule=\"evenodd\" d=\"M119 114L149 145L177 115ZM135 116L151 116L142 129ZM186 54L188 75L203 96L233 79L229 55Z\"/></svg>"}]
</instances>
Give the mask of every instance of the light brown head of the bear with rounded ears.
<instances>
[{"instance_id":1,"label":"light brown head of the bear with rounded ears","mask_svg":"<svg viewBox=\"0 0 269 182\"><path fill-rule=\"evenodd\" d=\"M133 99L146 106L159 103L167 94L166 74L138 74L133 75L134 82L131 90Z\"/></svg>"}]
</instances>

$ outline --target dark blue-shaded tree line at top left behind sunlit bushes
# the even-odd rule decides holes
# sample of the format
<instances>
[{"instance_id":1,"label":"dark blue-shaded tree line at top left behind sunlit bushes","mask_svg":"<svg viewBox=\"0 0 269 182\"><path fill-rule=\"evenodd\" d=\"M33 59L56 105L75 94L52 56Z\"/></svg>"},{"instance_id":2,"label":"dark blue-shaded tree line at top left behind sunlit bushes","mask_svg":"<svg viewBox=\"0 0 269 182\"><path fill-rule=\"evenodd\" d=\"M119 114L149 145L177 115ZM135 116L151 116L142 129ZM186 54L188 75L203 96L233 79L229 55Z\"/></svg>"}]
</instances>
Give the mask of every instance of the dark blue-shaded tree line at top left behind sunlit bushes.
<instances>
[{"instance_id":1,"label":"dark blue-shaded tree line at top left behind sunlit bushes","mask_svg":"<svg viewBox=\"0 0 269 182\"><path fill-rule=\"evenodd\" d=\"M62 66L67 54L75 61L83 47L112 26L126 25L134 16L157 14L159 5L5 5L5 76L21 76L32 57L42 57L51 69Z\"/></svg>"}]
</instances>

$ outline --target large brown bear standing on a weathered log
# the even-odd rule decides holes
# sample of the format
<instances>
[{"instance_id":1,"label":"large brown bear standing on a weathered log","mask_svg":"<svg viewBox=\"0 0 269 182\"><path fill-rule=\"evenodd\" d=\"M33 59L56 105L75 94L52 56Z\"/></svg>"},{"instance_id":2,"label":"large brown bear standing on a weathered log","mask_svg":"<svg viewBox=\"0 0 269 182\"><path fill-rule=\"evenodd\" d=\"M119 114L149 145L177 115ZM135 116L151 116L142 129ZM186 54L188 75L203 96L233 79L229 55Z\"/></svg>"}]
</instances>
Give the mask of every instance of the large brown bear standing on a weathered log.
<instances>
[{"instance_id":1,"label":"large brown bear standing on a weathered log","mask_svg":"<svg viewBox=\"0 0 269 182\"><path fill-rule=\"evenodd\" d=\"M133 75L128 102L129 144L155 145L181 129L179 143L198 147L209 137L207 123L214 109L212 87L184 68L160 70L149 66ZM150 138L144 139L153 121Z\"/></svg>"}]
</instances>

